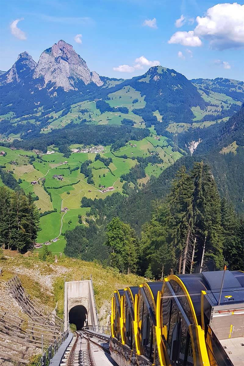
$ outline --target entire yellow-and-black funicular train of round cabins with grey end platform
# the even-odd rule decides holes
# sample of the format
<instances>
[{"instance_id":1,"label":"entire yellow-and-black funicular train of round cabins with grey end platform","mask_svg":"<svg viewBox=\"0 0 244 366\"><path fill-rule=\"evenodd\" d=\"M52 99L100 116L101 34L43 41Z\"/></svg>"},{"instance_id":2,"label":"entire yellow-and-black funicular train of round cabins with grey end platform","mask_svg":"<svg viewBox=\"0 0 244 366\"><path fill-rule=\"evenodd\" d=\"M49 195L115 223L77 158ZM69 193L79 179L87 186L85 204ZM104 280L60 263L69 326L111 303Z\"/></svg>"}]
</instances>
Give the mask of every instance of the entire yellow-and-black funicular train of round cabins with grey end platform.
<instances>
[{"instance_id":1,"label":"entire yellow-and-black funicular train of round cabins with grey end platform","mask_svg":"<svg viewBox=\"0 0 244 366\"><path fill-rule=\"evenodd\" d=\"M244 365L244 272L170 275L116 290L111 335L121 366Z\"/></svg>"}]
</instances>

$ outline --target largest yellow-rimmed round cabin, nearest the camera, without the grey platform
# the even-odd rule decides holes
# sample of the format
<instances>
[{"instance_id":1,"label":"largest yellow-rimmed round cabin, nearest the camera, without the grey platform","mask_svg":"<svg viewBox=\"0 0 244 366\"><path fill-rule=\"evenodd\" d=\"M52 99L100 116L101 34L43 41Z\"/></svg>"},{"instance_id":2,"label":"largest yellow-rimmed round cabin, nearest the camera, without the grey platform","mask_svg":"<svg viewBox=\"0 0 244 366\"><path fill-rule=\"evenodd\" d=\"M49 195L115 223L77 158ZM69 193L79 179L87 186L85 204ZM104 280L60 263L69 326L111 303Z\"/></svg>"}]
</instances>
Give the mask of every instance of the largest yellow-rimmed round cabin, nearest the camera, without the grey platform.
<instances>
[{"instance_id":1,"label":"largest yellow-rimmed round cabin, nearest the camera, without the grey platform","mask_svg":"<svg viewBox=\"0 0 244 366\"><path fill-rule=\"evenodd\" d=\"M160 309L157 325L161 328L158 357L161 364L209 365L205 344L203 349L199 346L199 342L204 339L204 332L199 325L200 293L204 289L204 285L199 282L199 275L170 275L164 279L157 300Z\"/></svg>"}]
</instances>

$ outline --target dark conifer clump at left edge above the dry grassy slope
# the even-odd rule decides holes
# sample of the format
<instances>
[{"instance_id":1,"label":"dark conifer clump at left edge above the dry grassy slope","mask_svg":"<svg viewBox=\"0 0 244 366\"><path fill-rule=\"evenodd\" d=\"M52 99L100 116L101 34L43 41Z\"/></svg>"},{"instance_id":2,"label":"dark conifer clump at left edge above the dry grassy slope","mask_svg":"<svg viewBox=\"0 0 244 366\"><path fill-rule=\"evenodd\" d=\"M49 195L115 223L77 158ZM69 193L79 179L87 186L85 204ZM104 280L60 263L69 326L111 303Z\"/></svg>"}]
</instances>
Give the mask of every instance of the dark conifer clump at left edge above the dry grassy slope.
<instances>
[{"instance_id":1,"label":"dark conifer clump at left edge above the dry grassy slope","mask_svg":"<svg viewBox=\"0 0 244 366\"><path fill-rule=\"evenodd\" d=\"M0 187L0 217L0 247L31 250L40 229L40 216L31 194Z\"/></svg>"}]
</instances>

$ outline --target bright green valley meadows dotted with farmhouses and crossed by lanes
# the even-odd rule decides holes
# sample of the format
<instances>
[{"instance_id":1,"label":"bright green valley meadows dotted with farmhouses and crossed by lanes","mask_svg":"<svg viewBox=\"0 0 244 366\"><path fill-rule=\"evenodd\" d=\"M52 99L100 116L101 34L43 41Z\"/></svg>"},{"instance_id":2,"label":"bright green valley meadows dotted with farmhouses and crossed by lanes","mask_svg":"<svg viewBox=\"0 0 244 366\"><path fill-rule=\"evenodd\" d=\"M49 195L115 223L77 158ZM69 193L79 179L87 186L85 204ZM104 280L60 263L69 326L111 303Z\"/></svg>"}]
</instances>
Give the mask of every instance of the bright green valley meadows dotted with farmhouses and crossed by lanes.
<instances>
[{"instance_id":1,"label":"bright green valley meadows dotted with farmhouses and crossed by lanes","mask_svg":"<svg viewBox=\"0 0 244 366\"><path fill-rule=\"evenodd\" d=\"M119 98L119 101L123 99L122 102L129 102L131 96L133 98L138 97L135 90L131 89L128 93L125 91L124 99L122 97L119 98L119 94L117 94L114 96L114 100ZM143 103L143 98L141 98L141 102ZM94 104L89 103L94 107ZM80 104L77 104L74 108L79 106ZM11 171L16 180L20 179L20 187L23 188L26 194L30 192L33 197L38 196L38 199L34 202L40 213L55 210L55 212L41 216L41 231L38 232L37 242L44 243L58 237L57 242L52 242L49 248L53 253L63 252L65 231L72 230L80 224L87 225L86 212L90 208L80 207L82 197L104 199L107 195L115 192L122 194L124 182L120 182L120 177L122 174L128 173L138 163L136 156L146 157L150 153L158 152L163 160L163 163L149 164L147 166L145 171L146 178L138 180L139 187L142 187L142 183L146 183L152 175L158 177L166 167L181 156L178 152L172 152L172 147L168 144L165 137L160 137L160 140L154 138L156 132L153 127L150 128L150 131L152 134L150 137L144 138L141 141L129 141L116 152L110 152L111 146L105 146L105 152L102 156L112 158L109 166L106 166L100 160L95 161L95 153L71 153L70 157L64 158L63 154L55 151L53 154L44 154L40 158L37 157L37 154L30 151L11 150L3 147L2 150L6 152L5 157L0 157L0 165L6 167L3 169ZM71 145L70 147L77 148L80 146ZM49 148L53 150L52 146ZM122 157L123 155L126 155L127 158ZM30 163L31 156L35 158L32 163ZM133 156L135 159L132 159ZM87 178L80 173L80 165L86 160L92 161L90 168L93 174L93 184L87 183ZM65 164L64 161L68 163ZM53 178L53 175L62 175L63 180ZM33 181L37 183L31 184ZM44 190L44 184L48 192ZM1 180L0 185L3 185ZM104 188L100 188L101 186L113 186L115 189L108 193L103 193L102 189ZM50 199L49 194L52 199ZM65 213L61 212L65 207L68 208L68 211ZM81 216L81 223L79 223L78 215Z\"/></svg>"}]
</instances>

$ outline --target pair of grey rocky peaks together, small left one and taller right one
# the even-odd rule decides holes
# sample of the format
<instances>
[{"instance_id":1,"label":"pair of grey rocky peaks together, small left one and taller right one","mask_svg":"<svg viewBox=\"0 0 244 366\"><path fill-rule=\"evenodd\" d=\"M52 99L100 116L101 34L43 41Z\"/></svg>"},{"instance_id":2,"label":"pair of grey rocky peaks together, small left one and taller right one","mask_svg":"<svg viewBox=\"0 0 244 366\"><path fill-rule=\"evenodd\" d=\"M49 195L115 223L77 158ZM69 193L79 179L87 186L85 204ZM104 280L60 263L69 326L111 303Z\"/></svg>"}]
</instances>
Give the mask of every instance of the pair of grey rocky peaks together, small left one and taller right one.
<instances>
[{"instance_id":1,"label":"pair of grey rocky peaks together, small left one and taller right one","mask_svg":"<svg viewBox=\"0 0 244 366\"><path fill-rule=\"evenodd\" d=\"M26 51L20 53L10 70L1 74L1 85L13 82L30 83L31 87L38 89L51 85L49 89L61 87L64 91L78 90L79 82L85 85L93 82L97 86L104 84L95 71L90 72L86 61L74 48L63 40L43 51L38 63Z\"/></svg>"}]
</instances>

